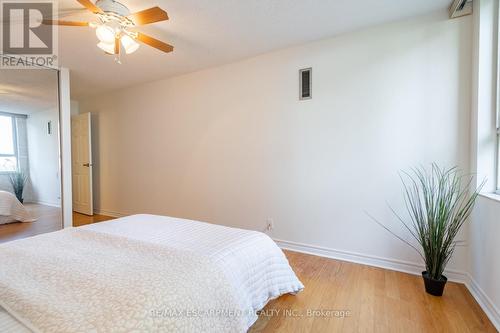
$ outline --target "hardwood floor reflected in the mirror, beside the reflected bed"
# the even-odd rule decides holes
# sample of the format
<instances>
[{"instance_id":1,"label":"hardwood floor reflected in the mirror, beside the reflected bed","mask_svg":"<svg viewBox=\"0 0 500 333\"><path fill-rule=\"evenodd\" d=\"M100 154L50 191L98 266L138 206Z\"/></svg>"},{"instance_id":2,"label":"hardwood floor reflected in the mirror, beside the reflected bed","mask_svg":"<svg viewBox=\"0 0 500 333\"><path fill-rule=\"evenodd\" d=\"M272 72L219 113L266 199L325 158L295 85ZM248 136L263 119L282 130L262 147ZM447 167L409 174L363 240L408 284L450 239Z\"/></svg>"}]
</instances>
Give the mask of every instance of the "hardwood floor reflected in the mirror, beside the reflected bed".
<instances>
[{"instance_id":1,"label":"hardwood floor reflected in the mirror, beside the reflected bed","mask_svg":"<svg viewBox=\"0 0 500 333\"><path fill-rule=\"evenodd\" d=\"M27 203L24 205L35 222L15 222L0 225L0 243L57 231L62 228L61 208Z\"/></svg>"}]
</instances>

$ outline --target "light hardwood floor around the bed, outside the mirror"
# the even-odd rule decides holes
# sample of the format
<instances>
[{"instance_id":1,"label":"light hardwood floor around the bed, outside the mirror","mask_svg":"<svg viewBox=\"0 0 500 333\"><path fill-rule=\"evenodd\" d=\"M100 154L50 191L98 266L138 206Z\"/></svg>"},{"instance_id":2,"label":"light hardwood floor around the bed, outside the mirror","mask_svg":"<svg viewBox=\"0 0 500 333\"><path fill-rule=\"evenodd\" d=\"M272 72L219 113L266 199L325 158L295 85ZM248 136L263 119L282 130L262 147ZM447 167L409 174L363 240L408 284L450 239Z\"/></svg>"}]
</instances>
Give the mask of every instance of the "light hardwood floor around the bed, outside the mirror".
<instances>
[{"instance_id":1,"label":"light hardwood floor around the bed, outside the mirror","mask_svg":"<svg viewBox=\"0 0 500 333\"><path fill-rule=\"evenodd\" d=\"M110 219L73 214L74 226ZM285 254L305 289L269 302L249 332L497 332L462 284L434 297L420 276Z\"/></svg>"}]
</instances>

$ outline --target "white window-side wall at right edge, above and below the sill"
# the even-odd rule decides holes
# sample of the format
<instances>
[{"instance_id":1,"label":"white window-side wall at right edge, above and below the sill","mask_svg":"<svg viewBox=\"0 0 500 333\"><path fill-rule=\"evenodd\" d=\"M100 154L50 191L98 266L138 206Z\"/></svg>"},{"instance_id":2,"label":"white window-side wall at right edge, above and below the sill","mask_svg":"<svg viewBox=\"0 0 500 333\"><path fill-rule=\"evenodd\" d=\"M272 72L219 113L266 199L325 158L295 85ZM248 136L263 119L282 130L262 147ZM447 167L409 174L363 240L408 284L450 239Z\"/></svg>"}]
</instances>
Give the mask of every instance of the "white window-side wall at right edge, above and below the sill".
<instances>
[{"instance_id":1,"label":"white window-side wall at right edge, above and below the sill","mask_svg":"<svg viewBox=\"0 0 500 333\"><path fill-rule=\"evenodd\" d=\"M496 189L497 15L498 1L474 1L471 161L485 193ZM500 196L486 195L470 225L470 289L500 330Z\"/></svg>"}]
</instances>

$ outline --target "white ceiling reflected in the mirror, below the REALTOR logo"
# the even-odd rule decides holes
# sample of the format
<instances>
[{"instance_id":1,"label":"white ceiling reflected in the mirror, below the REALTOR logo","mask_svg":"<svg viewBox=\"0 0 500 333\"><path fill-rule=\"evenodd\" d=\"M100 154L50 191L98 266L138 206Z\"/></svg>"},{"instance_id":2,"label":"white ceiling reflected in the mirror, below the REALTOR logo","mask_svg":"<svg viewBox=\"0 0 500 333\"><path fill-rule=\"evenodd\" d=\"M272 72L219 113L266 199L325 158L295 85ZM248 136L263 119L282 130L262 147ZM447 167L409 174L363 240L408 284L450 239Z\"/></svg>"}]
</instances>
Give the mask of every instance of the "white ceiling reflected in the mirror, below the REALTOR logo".
<instances>
[{"instance_id":1,"label":"white ceiling reflected in the mirror, below the REALTOR logo","mask_svg":"<svg viewBox=\"0 0 500 333\"><path fill-rule=\"evenodd\" d=\"M57 71L1 69L0 111L31 114L59 106Z\"/></svg>"}]
</instances>

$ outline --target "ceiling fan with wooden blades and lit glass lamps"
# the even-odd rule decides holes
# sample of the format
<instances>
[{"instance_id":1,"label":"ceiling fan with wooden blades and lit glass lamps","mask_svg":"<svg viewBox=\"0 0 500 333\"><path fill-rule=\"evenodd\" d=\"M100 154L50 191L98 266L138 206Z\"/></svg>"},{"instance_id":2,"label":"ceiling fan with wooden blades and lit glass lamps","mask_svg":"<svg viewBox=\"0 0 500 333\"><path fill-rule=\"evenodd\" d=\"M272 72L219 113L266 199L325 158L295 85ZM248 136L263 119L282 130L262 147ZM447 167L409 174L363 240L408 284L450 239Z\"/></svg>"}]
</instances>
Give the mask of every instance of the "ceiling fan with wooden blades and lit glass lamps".
<instances>
[{"instance_id":1,"label":"ceiling fan with wooden blades and lit glass lamps","mask_svg":"<svg viewBox=\"0 0 500 333\"><path fill-rule=\"evenodd\" d=\"M73 27L92 27L99 39L97 46L106 54L116 55L120 62L121 49L126 54L139 48L137 41L152 46L163 52L172 52L174 47L141 32L133 31L136 26L168 20L167 12L160 7L152 7L137 13L115 0L77 0L97 16L96 22L43 20L43 24Z\"/></svg>"}]
</instances>

